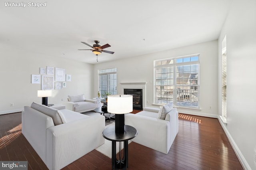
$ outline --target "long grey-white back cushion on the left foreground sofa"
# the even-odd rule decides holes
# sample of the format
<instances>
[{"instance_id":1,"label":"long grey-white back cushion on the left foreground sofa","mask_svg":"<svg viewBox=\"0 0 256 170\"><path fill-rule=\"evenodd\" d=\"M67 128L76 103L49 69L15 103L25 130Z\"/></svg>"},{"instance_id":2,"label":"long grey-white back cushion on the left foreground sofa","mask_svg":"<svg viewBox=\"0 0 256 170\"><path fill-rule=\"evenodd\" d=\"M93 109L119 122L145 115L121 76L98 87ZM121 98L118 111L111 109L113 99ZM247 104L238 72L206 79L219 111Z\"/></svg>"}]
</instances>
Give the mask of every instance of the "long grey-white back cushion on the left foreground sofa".
<instances>
[{"instance_id":1,"label":"long grey-white back cushion on the left foreground sofa","mask_svg":"<svg viewBox=\"0 0 256 170\"><path fill-rule=\"evenodd\" d=\"M37 111L44 113L45 115L50 116L55 126L63 123L57 109L34 102L31 104L31 107Z\"/></svg>"}]
</instances>

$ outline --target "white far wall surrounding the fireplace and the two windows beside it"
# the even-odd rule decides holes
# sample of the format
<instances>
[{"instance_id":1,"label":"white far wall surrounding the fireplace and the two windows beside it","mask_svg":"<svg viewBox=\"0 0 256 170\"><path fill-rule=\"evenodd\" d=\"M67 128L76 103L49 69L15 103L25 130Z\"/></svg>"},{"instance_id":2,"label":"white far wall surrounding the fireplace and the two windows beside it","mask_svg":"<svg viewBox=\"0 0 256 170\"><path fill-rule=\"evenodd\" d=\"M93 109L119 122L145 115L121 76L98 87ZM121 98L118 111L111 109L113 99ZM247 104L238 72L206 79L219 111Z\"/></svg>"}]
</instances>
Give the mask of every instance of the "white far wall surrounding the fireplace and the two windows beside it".
<instances>
[{"instance_id":1,"label":"white far wall surrounding the fireplace and the two windows beside it","mask_svg":"<svg viewBox=\"0 0 256 170\"><path fill-rule=\"evenodd\" d=\"M218 41L211 41L151 53L127 59L120 59L107 63L99 63L94 65L94 93L98 92L98 69L117 67L117 92L121 94L120 83L146 83L146 106L159 107L153 105L154 101L154 60L165 59L170 57L179 57L191 54L200 54L200 109L181 109L180 113L193 115L204 115L209 117L217 117L217 66L218 66ZM209 109L209 106L212 109Z\"/></svg>"}]
</instances>

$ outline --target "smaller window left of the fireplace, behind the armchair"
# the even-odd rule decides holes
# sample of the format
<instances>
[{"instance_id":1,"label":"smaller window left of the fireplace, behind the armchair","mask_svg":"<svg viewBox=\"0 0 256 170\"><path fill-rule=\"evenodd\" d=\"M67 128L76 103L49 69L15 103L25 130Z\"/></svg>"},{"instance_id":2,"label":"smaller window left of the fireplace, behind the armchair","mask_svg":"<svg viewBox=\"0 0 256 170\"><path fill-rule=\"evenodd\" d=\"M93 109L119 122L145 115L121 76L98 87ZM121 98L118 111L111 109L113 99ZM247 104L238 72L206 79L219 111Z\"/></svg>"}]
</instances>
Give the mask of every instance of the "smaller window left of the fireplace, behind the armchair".
<instances>
[{"instance_id":1,"label":"smaller window left of the fireplace, behind the armchair","mask_svg":"<svg viewBox=\"0 0 256 170\"><path fill-rule=\"evenodd\" d=\"M105 92L116 95L116 67L98 70L99 93Z\"/></svg>"}]
</instances>

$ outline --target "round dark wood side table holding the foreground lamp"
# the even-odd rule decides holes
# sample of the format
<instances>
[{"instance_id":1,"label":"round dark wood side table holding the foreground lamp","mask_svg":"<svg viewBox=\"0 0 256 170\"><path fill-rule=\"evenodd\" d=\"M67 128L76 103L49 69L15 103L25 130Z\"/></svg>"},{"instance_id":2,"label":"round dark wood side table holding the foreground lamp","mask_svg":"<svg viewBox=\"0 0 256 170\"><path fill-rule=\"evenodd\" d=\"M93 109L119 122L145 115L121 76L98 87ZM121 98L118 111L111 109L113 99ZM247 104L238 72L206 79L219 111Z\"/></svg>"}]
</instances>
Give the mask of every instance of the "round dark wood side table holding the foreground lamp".
<instances>
[{"instance_id":1,"label":"round dark wood side table holding the foreground lamp","mask_svg":"<svg viewBox=\"0 0 256 170\"><path fill-rule=\"evenodd\" d=\"M102 136L112 141L112 169L125 169L128 167L128 140L137 135L136 128L124 125L124 134L115 132L115 126L105 128ZM116 142L119 142L119 159L116 158ZM124 142L124 155L121 158L121 142Z\"/></svg>"}]
</instances>

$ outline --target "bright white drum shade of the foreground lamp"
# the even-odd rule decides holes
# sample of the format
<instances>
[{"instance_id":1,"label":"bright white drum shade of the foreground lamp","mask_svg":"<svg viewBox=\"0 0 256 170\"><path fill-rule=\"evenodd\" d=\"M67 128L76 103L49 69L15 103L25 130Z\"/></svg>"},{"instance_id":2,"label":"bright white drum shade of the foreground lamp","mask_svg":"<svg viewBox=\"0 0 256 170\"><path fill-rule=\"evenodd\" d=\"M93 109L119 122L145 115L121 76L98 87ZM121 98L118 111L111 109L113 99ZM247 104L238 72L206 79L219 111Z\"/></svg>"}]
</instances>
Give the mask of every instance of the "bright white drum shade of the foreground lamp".
<instances>
[{"instance_id":1,"label":"bright white drum shade of the foreground lamp","mask_svg":"<svg viewBox=\"0 0 256 170\"><path fill-rule=\"evenodd\" d=\"M132 112L132 95L108 95L108 112L124 114Z\"/></svg>"}]
</instances>

